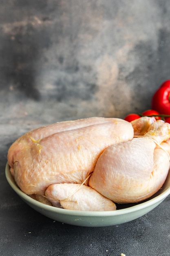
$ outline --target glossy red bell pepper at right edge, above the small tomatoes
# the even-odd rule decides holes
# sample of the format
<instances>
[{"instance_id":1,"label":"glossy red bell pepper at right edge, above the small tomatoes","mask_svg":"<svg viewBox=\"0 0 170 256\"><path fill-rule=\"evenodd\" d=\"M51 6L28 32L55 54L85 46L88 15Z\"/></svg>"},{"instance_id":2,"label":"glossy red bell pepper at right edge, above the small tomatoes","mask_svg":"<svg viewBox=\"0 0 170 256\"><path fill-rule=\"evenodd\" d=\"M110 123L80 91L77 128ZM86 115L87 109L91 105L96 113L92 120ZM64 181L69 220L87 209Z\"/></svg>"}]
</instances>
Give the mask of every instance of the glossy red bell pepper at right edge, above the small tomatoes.
<instances>
[{"instance_id":1,"label":"glossy red bell pepper at right edge, above the small tomatoes","mask_svg":"<svg viewBox=\"0 0 170 256\"><path fill-rule=\"evenodd\" d=\"M170 80L165 81L153 95L152 109L170 115Z\"/></svg>"}]
</instances>

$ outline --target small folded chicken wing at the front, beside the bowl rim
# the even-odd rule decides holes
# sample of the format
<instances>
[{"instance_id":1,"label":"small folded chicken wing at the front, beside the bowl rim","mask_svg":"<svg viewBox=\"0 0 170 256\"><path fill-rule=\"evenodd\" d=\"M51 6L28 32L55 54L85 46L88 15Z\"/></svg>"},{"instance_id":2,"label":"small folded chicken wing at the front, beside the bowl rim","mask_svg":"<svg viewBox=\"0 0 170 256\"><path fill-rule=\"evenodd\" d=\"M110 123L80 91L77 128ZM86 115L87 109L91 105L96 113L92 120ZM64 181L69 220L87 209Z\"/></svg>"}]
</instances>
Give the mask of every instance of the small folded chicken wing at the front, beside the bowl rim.
<instances>
[{"instance_id":1,"label":"small folded chicken wing at the front, beside the bowl rim","mask_svg":"<svg viewBox=\"0 0 170 256\"><path fill-rule=\"evenodd\" d=\"M46 198L55 207L76 211L114 211L116 205L89 186L54 184L46 189Z\"/></svg>"}]
</instances>

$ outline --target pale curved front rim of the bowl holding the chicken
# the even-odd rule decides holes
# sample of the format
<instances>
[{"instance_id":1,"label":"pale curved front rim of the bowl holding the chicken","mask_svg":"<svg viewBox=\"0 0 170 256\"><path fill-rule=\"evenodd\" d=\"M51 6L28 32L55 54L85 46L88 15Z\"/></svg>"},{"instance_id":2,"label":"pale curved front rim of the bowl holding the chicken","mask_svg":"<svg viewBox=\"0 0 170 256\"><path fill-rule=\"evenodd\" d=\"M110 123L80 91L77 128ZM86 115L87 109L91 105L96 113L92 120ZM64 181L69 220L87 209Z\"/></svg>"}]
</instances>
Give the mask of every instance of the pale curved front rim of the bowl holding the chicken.
<instances>
[{"instance_id":1,"label":"pale curved front rim of the bowl holding the chicken","mask_svg":"<svg viewBox=\"0 0 170 256\"><path fill-rule=\"evenodd\" d=\"M31 198L29 195L26 195L24 192L20 190L20 188L16 185L13 176L10 172L10 166L7 162L5 167L5 175L7 178L7 181L11 188L26 202L33 204L36 207L40 207L47 211L53 211L56 214L60 213L63 215L76 215L76 216L91 216L91 217L106 217L106 216L120 216L125 214L130 214L132 212L140 211L141 209L145 209L147 207L150 207L153 204L160 203L163 201L169 194L170 194L170 186L163 191L163 193L156 195L154 198L148 199L145 202L139 202L139 204L123 208L123 209L117 209L115 211L75 211L75 210L68 210L68 209L62 209L53 207L51 205L43 204L42 202L39 202L33 198Z\"/></svg>"}]
</instances>

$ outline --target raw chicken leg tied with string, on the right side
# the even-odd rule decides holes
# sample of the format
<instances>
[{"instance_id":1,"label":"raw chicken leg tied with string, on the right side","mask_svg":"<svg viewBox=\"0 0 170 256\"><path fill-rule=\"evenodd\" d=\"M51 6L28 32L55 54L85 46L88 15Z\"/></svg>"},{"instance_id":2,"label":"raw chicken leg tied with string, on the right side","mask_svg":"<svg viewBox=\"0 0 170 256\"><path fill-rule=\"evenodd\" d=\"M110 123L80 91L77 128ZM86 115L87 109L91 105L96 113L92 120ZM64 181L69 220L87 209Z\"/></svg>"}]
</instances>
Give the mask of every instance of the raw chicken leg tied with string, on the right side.
<instances>
[{"instance_id":1,"label":"raw chicken leg tied with string, on the right side","mask_svg":"<svg viewBox=\"0 0 170 256\"><path fill-rule=\"evenodd\" d=\"M156 193L170 168L170 144L163 142L170 138L170 124L158 120L146 130L106 148L88 185L117 203L140 202Z\"/></svg>"}]
</instances>

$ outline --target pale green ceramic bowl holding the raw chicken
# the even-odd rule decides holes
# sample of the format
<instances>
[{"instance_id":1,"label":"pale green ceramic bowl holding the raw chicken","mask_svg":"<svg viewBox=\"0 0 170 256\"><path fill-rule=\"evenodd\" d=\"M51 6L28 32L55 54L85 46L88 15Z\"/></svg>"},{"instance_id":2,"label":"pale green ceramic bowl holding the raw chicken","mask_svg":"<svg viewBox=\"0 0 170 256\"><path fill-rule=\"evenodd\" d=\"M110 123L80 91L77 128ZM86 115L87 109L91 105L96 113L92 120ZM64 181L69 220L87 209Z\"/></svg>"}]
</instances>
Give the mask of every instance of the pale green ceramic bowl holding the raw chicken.
<instances>
[{"instance_id":1,"label":"pale green ceramic bowl holding the raw chicken","mask_svg":"<svg viewBox=\"0 0 170 256\"><path fill-rule=\"evenodd\" d=\"M157 207L170 194L169 173L162 189L152 196L152 198L144 202L133 205L124 204L121 205L121 209L117 209L116 211L71 211L40 203L23 193L15 184L9 171L8 163L5 174L12 189L35 211L59 222L84 227L105 227L135 220ZM122 207L124 208L122 209Z\"/></svg>"}]
</instances>

